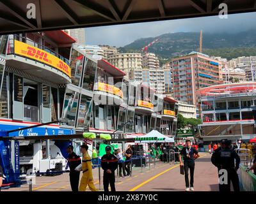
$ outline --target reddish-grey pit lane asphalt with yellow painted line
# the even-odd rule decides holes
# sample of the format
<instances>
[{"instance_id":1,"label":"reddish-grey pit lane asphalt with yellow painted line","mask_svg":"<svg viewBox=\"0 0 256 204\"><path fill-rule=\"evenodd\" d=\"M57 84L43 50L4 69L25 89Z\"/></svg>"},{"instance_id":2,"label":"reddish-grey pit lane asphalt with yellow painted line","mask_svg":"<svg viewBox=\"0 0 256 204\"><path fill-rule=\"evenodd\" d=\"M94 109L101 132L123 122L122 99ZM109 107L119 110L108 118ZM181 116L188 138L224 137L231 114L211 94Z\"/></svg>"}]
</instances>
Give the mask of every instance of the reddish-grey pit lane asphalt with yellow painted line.
<instances>
[{"instance_id":1,"label":"reddish-grey pit lane asphalt with yellow painted line","mask_svg":"<svg viewBox=\"0 0 256 204\"><path fill-rule=\"evenodd\" d=\"M218 191L217 169L211 164L209 153L200 153L195 164L195 191ZM132 177L116 177L116 191L184 191L184 175L179 173L179 163L157 161L150 168L133 168ZM95 187L103 191L102 170L93 170ZM28 191L28 184L2 191ZM89 190L89 189L88 189ZM36 177L33 191L71 191L68 173L55 177ZM90 191L90 190L89 190Z\"/></svg>"}]
</instances>

